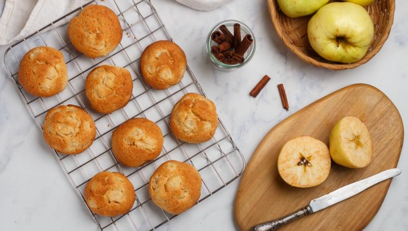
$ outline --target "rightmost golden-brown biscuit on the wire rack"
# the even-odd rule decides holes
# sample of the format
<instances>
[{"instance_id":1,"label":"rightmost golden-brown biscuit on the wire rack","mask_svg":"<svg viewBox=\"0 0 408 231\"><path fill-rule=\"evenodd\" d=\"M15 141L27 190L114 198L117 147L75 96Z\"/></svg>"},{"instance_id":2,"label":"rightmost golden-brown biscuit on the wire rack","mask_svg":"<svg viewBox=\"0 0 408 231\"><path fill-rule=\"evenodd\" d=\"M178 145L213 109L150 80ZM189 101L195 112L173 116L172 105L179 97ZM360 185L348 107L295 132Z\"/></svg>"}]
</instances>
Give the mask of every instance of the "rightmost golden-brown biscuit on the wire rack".
<instances>
[{"instance_id":1,"label":"rightmost golden-brown biscuit on the wire rack","mask_svg":"<svg viewBox=\"0 0 408 231\"><path fill-rule=\"evenodd\" d=\"M217 125L214 103L199 94L186 94L174 105L171 112L171 131L179 140L187 143L209 141Z\"/></svg>"}]
</instances>

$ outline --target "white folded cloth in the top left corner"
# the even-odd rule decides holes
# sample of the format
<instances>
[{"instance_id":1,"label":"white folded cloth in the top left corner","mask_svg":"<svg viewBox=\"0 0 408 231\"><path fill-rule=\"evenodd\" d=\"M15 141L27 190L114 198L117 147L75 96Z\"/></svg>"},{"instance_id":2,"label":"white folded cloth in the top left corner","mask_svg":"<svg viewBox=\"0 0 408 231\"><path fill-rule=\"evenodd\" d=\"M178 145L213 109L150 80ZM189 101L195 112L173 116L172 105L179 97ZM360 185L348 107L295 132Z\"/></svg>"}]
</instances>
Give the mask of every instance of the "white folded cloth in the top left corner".
<instances>
[{"instance_id":1,"label":"white folded cloth in the top left corner","mask_svg":"<svg viewBox=\"0 0 408 231\"><path fill-rule=\"evenodd\" d=\"M20 40L90 0L6 0L0 45Z\"/></svg>"}]
</instances>

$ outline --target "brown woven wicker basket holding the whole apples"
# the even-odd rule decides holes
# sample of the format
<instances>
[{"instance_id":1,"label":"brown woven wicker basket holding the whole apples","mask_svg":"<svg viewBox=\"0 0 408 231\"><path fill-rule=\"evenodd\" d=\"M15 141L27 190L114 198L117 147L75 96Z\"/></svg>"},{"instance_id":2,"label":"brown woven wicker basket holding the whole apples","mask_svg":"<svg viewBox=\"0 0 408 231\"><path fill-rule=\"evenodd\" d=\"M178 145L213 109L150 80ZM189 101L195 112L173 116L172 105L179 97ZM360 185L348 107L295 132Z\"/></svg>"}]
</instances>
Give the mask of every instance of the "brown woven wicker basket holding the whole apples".
<instances>
[{"instance_id":1,"label":"brown woven wicker basket holding the whole apples","mask_svg":"<svg viewBox=\"0 0 408 231\"><path fill-rule=\"evenodd\" d=\"M395 0L376 0L365 7L374 22L374 39L366 56L358 62L343 64L330 62L320 57L308 40L308 22L312 15L290 18L278 7L276 0L267 0L272 24L282 41L293 53L305 62L330 70L352 69L368 62L387 40L394 21ZM339 2L339 1L331 1Z\"/></svg>"}]
</instances>

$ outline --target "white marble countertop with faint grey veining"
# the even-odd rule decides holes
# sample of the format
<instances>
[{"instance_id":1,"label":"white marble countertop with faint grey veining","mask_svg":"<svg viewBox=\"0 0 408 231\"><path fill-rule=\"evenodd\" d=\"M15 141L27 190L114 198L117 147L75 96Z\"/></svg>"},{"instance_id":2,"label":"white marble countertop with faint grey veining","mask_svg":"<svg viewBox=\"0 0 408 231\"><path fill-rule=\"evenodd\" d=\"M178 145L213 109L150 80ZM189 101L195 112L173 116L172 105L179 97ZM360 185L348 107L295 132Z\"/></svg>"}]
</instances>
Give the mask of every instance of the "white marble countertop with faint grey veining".
<instances>
[{"instance_id":1,"label":"white marble countertop with faint grey veining","mask_svg":"<svg viewBox=\"0 0 408 231\"><path fill-rule=\"evenodd\" d=\"M4 1L1 1L4 2ZM328 71L292 54L271 25L265 0L235 0L213 12L199 12L169 0L155 0L174 40L220 118L248 161L265 133L290 114L353 83L376 86L399 109L408 130L408 2L396 1L394 26L382 50L350 71ZM215 71L205 51L209 30L224 19L238 19L257 36L258 50L242 70ZM186 20L188 19L188 21ZM4 54L6 46L0 47ZM22 103L3 61L0 78L0 226L1 230L97 230L52 151ZM248 96L259 79L271 82L256 98ZM291 108L281 109L276 84L285 83ZM406 132L405 132L406 135ZM402 150L402 174L392 181L377 215L366 230L408 230L408 156ZM233 202L239 180L166 223L159 230L235 230Z\"/></svg>"}]
</instances>

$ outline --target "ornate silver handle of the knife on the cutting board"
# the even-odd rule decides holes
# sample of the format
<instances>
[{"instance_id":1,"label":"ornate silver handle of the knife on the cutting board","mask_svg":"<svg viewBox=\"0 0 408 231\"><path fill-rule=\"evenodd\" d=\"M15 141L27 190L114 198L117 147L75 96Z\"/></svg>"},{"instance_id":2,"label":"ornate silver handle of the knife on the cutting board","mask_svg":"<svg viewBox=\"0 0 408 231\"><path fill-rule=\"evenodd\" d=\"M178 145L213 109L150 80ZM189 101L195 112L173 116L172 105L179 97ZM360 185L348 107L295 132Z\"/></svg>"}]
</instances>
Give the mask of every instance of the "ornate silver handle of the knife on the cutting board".
<instances>
[{"instance_id":1,"label":"ornate silver handle of the knife on the cutting board","mask_svg":"<svg viewBox=\"0 0 408 231\"><path fill-rule=\"evenodd\" d=\"M298 218L304 217L308 214L311 214L312 210L310 209L309 205L304 207L303 209L300 209L294 213L291 213L285 217L278 218L276 220L272 221L267 221L261 224L257 224L253 226L252 228L249 229L249 231L271 231L271 230L276 230L279 227L292 222Z\"/></svg>"}]
</instances>

